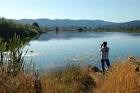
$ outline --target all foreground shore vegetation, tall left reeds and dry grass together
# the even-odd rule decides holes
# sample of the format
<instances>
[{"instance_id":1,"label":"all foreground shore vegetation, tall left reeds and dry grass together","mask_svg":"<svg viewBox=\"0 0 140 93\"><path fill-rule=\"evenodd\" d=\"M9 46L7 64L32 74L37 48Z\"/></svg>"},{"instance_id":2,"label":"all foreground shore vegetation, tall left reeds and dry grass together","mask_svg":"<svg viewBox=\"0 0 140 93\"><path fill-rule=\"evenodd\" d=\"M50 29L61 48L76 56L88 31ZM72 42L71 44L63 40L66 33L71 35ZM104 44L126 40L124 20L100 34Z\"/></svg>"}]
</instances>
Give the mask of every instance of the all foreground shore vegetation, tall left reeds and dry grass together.
<instances>
[{"instance_id":1,"label":"all foreground shore vegetation, tall left reeds and dry grass together","mask_svg":"<svg viewBox=\"0 0 140 93\"><path fill-rule=\"evenodd\" d=\"M18 44L19 46L15 46ZM18 36L0 41L0 93L139 93L140 60L119 61L103 75L97 67L69 64L39 74L24 60ZM25 53L26 54L26 53Z\"/></svg>"}]
</instances>

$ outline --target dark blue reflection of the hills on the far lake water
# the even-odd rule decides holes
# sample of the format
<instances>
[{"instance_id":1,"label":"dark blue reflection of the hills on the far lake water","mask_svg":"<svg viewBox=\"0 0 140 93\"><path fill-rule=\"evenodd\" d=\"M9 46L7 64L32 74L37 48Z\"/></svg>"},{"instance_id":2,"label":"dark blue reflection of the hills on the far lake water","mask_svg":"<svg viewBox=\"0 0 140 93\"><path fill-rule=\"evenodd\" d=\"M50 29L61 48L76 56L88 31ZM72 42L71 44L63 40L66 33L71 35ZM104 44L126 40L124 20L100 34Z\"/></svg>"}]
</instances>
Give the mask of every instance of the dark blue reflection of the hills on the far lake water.
<instances>
[{"instance_id":1,"label":"dark blue reflection of the hills on the far lake water","mask_svg":"<svg viewBox=\"0 0 140 93\"><path fill-rule=\"evenodd\" d=\"M112 35L113 33L104 33L100 34L100 32L48 32L47 34L43 34L38 38L38 41L46 41L51 39L61 40L61 39L72 39L72 38L100 38L106 35Z\"/></svg>"}]
</instances>

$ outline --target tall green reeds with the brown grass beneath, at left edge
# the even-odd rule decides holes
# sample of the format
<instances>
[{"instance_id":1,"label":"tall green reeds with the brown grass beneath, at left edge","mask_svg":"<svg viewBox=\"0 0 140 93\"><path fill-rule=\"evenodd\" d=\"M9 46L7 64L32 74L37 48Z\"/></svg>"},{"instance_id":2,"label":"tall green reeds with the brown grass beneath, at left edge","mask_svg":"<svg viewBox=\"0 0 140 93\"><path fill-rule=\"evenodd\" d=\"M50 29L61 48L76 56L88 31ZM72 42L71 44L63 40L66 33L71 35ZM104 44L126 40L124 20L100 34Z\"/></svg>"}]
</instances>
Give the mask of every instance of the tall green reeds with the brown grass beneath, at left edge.
<instances>
[{"instance_id":1,"label":"tall green reeds with the brown grass beneath, at left edge","mask_svg":"<svg viewBox=\"0 0 140 93\"><path fill-rule=\"evenodd\" d=\"M24 72L20 38L15 36L9 43L0 40L0 44L0 93L35 93L36 77L33 72Z\"/></svg>"}]
</instances>

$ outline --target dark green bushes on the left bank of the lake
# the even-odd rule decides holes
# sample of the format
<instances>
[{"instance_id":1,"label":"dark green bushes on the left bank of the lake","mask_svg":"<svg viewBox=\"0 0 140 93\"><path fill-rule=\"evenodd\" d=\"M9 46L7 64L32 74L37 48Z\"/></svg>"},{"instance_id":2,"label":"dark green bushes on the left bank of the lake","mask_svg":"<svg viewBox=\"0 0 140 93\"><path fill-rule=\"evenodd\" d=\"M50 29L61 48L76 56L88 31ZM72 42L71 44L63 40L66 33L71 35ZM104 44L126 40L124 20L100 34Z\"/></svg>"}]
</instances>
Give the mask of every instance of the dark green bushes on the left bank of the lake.
<instances>
[{"instance_id":1,"label":"dark green bushes on the left bank of the lake","mask_svg":"<svg viewBox=\"0 0 140 93\"><path fill-rule=\"evenodd\" d=\"M37 24L37 23L36 23ZM10 38L14 34L19 35L20 37L31 37L41 32L39 26L26 24L17 24L12 20L5 18L0 18L0 37Z\"/></svg>"}]
</instances>

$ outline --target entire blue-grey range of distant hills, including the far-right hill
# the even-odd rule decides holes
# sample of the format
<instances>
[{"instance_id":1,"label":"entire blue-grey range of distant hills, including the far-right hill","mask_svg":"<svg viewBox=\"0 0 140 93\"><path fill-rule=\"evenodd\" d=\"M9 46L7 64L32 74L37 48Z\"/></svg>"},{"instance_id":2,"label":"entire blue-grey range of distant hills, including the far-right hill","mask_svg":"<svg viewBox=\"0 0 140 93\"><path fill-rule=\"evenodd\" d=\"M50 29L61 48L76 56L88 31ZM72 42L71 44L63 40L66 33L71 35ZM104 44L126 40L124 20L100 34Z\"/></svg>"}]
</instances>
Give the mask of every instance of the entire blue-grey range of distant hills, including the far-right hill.
<instances>
[{"instance_id":1,"label":"entire blue-grey range of distant hills, including the far-right hill","mask_svg":"<svg viewBox=\"0 0 140 93\"><path fill-rule=\"evenodd\" d=\"M120 29L120 28L140 28L140 20L130 22L108 22L103 20L71 20L71 19L21 19L15 20L21 24L32 24L37 22L41 27L62 27L62 28L75 28L75 27L91 27L91 28L104 28L104 29Z\"/></svg>"}]
</instances>

